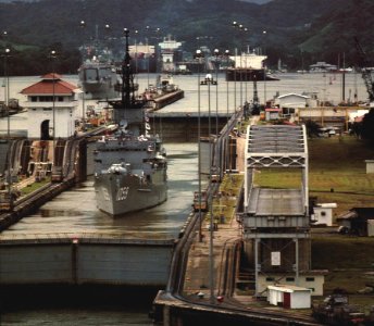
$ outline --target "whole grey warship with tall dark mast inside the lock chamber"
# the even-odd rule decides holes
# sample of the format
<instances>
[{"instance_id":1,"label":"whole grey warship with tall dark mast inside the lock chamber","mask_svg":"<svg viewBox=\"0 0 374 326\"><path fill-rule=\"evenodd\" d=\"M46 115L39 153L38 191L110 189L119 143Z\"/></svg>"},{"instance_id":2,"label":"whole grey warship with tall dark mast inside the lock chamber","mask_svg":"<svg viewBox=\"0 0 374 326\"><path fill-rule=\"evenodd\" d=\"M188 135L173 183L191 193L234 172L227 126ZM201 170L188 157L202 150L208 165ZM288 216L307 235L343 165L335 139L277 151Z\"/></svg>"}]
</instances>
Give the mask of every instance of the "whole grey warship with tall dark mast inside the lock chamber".
<instances>
[{"instance_id":1,"label":"whole grey warship with tall dark mast inside the lock chamber","mask_svg":"<svg viewBox=\"0 0 374 326\"><path fill-rule=\"evenodd\" d=\"M113 216L158 205L167 199L167 161L162 140L151 135L146 99L130 68L128 30L122 66L122 98L109 101L119 129L103 136L95 151L98 209Z\"/></svg>"}]
</instances>

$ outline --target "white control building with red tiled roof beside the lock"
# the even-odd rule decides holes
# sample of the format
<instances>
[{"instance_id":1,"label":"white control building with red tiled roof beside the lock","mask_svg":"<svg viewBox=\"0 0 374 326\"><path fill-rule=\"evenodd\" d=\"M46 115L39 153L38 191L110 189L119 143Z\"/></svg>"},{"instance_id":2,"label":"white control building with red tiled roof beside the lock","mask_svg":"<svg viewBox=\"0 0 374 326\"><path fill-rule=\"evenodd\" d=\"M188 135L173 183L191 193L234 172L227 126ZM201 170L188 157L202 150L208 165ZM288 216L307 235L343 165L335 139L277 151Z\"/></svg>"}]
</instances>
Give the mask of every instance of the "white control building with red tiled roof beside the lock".
<instances>
[{"instance_id":1,"label":"white control building with red tiled roof beside the lock","mask_svg":"<svg viewBox=\"0 0 374 326\"><path fill-rule=\"evenodd\" d=\"M48 140L53 136L73 136L78 92L77 86L61 79L55 73L43 75L40 82L24 88L21 93L27 96L28 138Z\"/></svg>"}]
</instances>

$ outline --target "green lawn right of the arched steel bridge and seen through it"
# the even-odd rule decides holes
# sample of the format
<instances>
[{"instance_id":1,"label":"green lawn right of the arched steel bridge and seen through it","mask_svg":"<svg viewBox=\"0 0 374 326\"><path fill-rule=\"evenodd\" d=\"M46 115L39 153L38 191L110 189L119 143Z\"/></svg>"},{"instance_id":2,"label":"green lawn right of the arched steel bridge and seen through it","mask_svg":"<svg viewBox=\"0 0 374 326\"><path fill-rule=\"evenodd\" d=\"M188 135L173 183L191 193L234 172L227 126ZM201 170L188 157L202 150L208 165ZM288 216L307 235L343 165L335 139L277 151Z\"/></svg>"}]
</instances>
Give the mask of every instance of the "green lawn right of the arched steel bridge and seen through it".
<instances>
[{"instance_id":1,"label":"green lawn right of the arched steel bridge and seen through it","mask_svg":"<svg viewBox=\"0 0 374 326\"><path fill-rule=\"evenodd\" d=\"M320 203L336 202L335 214L356 206L374 206L374 174L365 160L374 159L374 146L352 136L313 138L309 149L309 190ZM274 168L255 173L254 184L271 188L298 188L301 171Z\"/></svg>"}]
</instances>

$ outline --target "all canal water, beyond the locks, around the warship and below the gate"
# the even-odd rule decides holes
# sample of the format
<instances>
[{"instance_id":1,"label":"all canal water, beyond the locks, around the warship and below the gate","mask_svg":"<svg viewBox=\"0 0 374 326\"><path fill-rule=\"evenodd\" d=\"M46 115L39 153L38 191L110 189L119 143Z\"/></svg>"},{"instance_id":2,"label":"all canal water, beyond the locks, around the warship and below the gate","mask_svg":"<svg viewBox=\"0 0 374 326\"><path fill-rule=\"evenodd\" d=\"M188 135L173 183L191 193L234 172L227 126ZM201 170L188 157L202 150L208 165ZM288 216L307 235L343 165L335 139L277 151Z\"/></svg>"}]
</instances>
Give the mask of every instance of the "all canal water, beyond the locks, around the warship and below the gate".
<instances>
[{"instance_id":1,"label":"all canal water, beyond the locks, around the warship and below the gate","mask_svg":"<svg viewBox=\"0 0 374 326\"><path fill-rule=\"evenodd\" d=\"M204 75L201 74L200 78L203 77ZM276 93L303 91L315 92L321 100L334 103L341 100L341 75L280 74L278 77L280 78L278 82L258 83L261 102L264 98L271 99ZM77 76L63 78L71 83L77 82ZM234 111L235 103L239 105L246 99L248 101L252 99L252 83L227 84L224 75L219 74L217 86L199 87L198 79L198 75L174 76L174 83L185 90L185 98L160 110L158 114L197 112L199 102L201 112L229 113ZM38 80L38 76L11 77L10 97L20 99L20 104L23 105L26 99L20 95L20 91ZM148 82L154 84L154 80L155 75L140 75L138 79L140 89L145 89ZM353 100L354 93L358 95L359 100L364 101L367 98L362 78L357 74L346 75L345 92L346 99ZM4 93L2 88L0 88L0 93L1 100ZM87 100L87 103L97 104L92 100ZM7 130L7 118L0 120L0 133ZM25 130L27 114L12 116L10 123L12 130ZM46 235L58 237L60 234L70 236L102 234L113 237L151 235L160 239L175 238L191 210L192 192L198 189L197 145L170 142L165 143L165 148L169 156L169 200L162 205L113 220L97 210L94 181L88 178L87 181L46 203L35 214L23 218L4 231L3 236L24 238ZM152 325L148 312L154 292L138 296L136 289L130 291L102 289L99 296L97 292L90 296L92 291L101 291L101 289L89 289L84 296L79 293L82 300L78 300L78 303L77 298L73 298L76 293L64 290L57 289L55 293L40 290L41 294L35 299L28 297L29 293L35 293L35 288L29 292L27 289L20 291L22 296L18 298L20 304L16 303L17 301L13 301L11 306L2 304L0 325ZM7 302L8 294L10 293L0 293L2 303ZM63 296L63 298L57 298L57 296Z\"/></svg>"}]
</instances>

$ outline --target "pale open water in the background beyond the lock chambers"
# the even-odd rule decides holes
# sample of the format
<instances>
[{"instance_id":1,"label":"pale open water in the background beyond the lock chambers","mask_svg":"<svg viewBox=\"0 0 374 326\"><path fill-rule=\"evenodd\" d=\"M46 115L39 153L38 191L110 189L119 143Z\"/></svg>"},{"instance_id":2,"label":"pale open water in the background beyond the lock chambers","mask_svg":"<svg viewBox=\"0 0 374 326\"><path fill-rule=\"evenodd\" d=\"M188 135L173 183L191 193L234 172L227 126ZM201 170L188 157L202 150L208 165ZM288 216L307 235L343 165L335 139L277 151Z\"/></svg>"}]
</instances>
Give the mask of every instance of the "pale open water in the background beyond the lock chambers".
<instances>
[{"instance_id":1,"label":"pale open water in the background beyond the lock chambers","mask_svg":"<svg viewBox=\"0 0 374 326\"><path fill-rule=\"evenodd\" d=\"M257 89L260 102L264 99L270 100L277 95L287 93L315 93L321 101L329 101L333 104L338 104L345 95L346 101L354 101L354 95L359 101L365 102L367 100L367 92L363 79L360 74L349 73L345 74L345 83L342 83L342 74L297 74L297 73L283 73L275 75L279 78L276 82L258 82ZM174 84L179 86L185 91L185 98L172 103L157 111L157 114L164 113L196 113L199 108L202 114L211 113L232 113L234 108L240 105L246 100L248 102L253 98L253 83L248 82L225 82L224 74L213 74L213 78L219 80L217 85L199 87L198 80L202 80L204 74L197 75L176 75L173 77ZM77 75L66 75L62 78L72 84L77 84ZM20 105L24 105L26 97L21 95L21 90L40 80L40 76L26 76L26 77L10 77L10 98L16 98ZM137 77L139 89L146 89L148 84L155 84L155 74L141 74ZM4 85L3 79L0 78L0 85ZM342 85L345 87L342 87ZM342 91L345 89L345 91ZM4 98L4 87L0 87L0 101ZM199 101L200 100L200 101ZM80 100L78 110L83 111L83 106L87 110L87 105L94 108L102 106L103 103L98 103L95 100L86 99L84 102ZM21 130L22 135L27 129L27 114L18 114L10 118L11 129ZM0 118L0 136L7 134L8 121ZM23 131L22 131L23 130Z\"/></svg>"}]
</instances>

